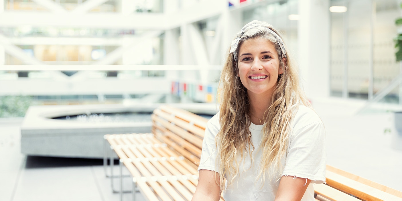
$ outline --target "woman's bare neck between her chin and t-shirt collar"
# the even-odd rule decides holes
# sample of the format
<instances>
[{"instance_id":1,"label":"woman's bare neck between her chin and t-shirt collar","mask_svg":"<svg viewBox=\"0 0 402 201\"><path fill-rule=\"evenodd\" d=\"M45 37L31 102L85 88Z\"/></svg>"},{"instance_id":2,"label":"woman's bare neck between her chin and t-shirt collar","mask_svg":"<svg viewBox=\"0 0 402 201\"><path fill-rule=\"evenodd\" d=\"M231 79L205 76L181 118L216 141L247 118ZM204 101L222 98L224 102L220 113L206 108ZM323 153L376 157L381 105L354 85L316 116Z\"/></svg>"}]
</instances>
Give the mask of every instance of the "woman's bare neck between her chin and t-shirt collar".
<instances>
[{"instance_id":1,"label":"woman's bare neck between her chin and t-shirt collar","mask_svg":"<svg viewBox=\"0 0 402 201\"><path fill-rule=\"evenodd\" d=\"M249 94L248 98L250 100L251 122L256 125L264 124L264 113L271 105L271 98L259 94Z\"/></svg>"}]
</instances>

